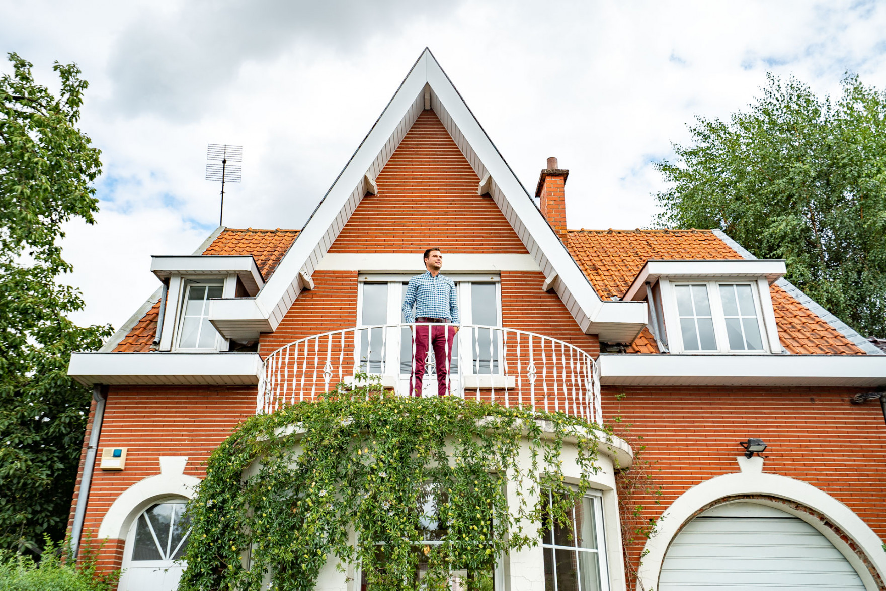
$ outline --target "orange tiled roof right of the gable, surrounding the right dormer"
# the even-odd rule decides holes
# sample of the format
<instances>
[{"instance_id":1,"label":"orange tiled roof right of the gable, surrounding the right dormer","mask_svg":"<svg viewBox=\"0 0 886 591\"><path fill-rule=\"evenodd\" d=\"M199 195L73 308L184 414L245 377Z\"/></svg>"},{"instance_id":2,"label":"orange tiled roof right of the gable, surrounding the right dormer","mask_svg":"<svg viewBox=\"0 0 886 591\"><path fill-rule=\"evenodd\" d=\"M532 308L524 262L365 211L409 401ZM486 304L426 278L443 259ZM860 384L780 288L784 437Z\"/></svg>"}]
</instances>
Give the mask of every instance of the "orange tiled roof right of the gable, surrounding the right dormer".
<instances>
[{"instance_id":1,"label":"orange tiled roof right of the gable, surrounding the right dormer","mask_svg":"<svg viewBox=\"0 0 886 591\"><path fill-rule=\"evenodd\" d=\"M564 242L597 294L610 300L625 294L649 259L742 258L711 230L569 230ZM773 285L770 292L785 349L796 355L864 355L784 289ZM644 328L627 352L657 353L655 338Z\"/></svg>"}]
</instances>

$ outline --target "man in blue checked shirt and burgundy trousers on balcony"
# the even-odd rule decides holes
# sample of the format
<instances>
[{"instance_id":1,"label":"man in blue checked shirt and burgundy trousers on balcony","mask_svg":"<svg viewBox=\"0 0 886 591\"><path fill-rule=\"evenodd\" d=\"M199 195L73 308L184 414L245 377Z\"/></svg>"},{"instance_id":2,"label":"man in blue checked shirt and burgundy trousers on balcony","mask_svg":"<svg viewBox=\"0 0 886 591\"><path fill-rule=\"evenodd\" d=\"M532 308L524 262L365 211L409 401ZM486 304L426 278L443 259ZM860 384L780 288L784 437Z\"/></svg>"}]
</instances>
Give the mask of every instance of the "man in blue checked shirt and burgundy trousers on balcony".
<instances>
[{"instance_id":1,"label":"man in blue checked shirt and burgundy trousers on balcony","mask_svg":"<svg viewBox=\"0 0 886 591\"><path fill-rule=\"evenodd\" d=\"M403 318L409 323L416 323L412 331L413 363L409 392L416 396L422 395L424 361L430 344L437 364L437 394L445 396L452 345L458 326L443 325L459 324L458 296L455 282L440 274L443 254L439 248L424 251L424 268L427 271L409 280L406 295L403 296ZM416 307L415 316L413 305ZM433 326L421 326L428 323Z\"/></svg>"}]
</instances>

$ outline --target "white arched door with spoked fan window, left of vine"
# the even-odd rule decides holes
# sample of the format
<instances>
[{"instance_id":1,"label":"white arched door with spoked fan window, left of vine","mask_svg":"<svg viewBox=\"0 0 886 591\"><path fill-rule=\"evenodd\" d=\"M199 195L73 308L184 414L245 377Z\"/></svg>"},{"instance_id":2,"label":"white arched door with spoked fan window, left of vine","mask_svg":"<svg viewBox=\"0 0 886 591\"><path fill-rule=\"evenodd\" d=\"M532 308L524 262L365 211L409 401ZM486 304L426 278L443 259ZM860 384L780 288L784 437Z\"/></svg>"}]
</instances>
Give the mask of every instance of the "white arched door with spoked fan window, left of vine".
<instances>
[{"instance_id":1,"label":"white arched door with spoked fan window, left of vine","mask_svg":"<svg viewBox=\"0 0 886 591\"><path fill-rule=\"evenodd\" d=\"M119 591L172 591L184 564L177 562L188 543L190 527L183 519L187 501L154 503L132 522L123 550Z\"/></svg>"}]
</instances>

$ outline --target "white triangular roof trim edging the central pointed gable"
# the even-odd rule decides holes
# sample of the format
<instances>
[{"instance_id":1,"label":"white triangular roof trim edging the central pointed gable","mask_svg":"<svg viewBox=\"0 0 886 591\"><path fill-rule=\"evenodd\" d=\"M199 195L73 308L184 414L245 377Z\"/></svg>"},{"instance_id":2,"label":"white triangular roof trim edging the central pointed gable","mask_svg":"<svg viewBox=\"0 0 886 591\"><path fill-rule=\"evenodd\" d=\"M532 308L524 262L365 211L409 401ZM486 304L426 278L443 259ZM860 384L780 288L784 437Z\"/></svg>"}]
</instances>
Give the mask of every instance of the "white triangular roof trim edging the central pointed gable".
<instances>
[{"instance_id":1,"label":"white triangular roof trim edging the central pointed gable","mask_svg":"<svg viewBox=\"0 0 886 591\"><path fill-rule=\"evenodd\" d=\"M633 341L646 325L645 304L604 302L596 294L428 49L317 205L274 276L254 299L214 301L210 308L213 324L225 336L246 340L276 328L426 107L436 112L478 177L489 177L490 196L581 329L600 334L602 341Z\"/></svg>"}]
</instances>

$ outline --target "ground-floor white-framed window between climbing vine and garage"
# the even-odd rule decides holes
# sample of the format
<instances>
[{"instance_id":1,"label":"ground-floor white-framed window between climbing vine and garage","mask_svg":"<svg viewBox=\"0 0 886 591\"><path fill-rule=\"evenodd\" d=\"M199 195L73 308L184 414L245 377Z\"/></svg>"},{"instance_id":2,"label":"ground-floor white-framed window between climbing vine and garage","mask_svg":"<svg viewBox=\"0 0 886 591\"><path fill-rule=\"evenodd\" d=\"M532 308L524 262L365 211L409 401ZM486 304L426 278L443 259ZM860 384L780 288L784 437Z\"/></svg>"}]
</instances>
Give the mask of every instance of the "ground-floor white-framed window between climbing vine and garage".
<instances>
[{"instance_id":1,"label":"ground-floor white-framed window between climbing vine and garage","mask_svg":"<svg viewBox=\"0 0 886 591\"><path fill-rule=\"evenodd\" d=\"M548 507L553 496L548 495ZM545 516L549 518L549 514ZM603 551L600 497L586 495L571 510L570 526L542 531L545 591L603 591L609 588Z\"/></svg>"}]
</instances>

